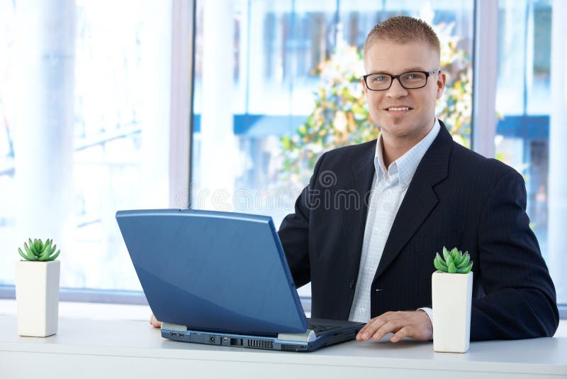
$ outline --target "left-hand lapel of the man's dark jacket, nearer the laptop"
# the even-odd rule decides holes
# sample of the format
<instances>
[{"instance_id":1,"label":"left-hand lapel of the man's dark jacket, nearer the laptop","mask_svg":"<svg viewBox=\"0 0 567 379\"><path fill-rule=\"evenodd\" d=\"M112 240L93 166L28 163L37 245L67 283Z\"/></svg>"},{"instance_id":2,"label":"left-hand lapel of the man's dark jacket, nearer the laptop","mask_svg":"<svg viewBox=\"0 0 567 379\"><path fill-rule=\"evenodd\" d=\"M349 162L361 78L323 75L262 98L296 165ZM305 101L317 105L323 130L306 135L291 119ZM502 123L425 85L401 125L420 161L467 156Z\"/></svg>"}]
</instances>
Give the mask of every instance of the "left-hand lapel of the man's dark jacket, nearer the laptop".
<instances>
[{"instance_id":1,"label":"left-hand lapel of the man's dark jacket, nearer the laptop","mask_svg":"<svg viewBox=\"0 0 567 379\"><path fill-rule=\"evenodd\" d=\"M352 182L349 188L354 189L360 199L359 207L347 207L342 212L342 231L344 238L349 241L349 262L351 270L358 273L364 240L364 228L366 226L366 214L368 213L368 195L374 178L374 154L376 153L376 141L368 143L361 157L352 166Z\"/></svg>"}]
</instances>

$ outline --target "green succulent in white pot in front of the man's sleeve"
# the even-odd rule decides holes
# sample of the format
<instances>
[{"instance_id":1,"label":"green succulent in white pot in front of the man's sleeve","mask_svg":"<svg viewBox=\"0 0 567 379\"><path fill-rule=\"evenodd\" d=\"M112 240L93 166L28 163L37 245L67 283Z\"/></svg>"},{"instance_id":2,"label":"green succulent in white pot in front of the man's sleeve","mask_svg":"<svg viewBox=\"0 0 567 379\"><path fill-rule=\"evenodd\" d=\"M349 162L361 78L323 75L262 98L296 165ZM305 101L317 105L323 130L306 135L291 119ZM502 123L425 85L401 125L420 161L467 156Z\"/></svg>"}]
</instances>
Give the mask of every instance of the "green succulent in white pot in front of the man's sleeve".
<instances>
[{"instance_id":1,"label":"green succulent in white pot in front of the man's sleeve","mask_svg":"<svg viewBox=\"0 0 567 379\"><path fill-rule=\"evenodd\" d=\"M436 253L431 278L433 350L466 353L471 337L473 262L457 248Z\"/></svg>"}]
</instances>

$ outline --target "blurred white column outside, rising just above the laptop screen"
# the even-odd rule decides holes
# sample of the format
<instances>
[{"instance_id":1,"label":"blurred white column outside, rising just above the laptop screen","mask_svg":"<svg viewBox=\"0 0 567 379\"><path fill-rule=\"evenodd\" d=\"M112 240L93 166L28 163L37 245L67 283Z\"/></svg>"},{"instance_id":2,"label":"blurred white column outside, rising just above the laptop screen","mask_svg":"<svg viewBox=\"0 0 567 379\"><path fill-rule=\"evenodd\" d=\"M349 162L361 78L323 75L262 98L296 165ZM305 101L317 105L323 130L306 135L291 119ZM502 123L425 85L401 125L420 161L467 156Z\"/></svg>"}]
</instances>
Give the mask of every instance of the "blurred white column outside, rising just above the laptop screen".
<instances>
[{"instance_id":1,"label":"blurred white column outside, rising just above the laptop screen","mask_svg":"<svg viewBox=\"0 0 567 379\"><path fill-rule=\"evenodd\" d=\"M233 0L206 1L203 9L203 113L201 116L201 193L193 206L232 209L235 182ZM206 191L208 195L206 196ZM198 204L201 202L202 204Z\"/></svg>"}]
</instances>

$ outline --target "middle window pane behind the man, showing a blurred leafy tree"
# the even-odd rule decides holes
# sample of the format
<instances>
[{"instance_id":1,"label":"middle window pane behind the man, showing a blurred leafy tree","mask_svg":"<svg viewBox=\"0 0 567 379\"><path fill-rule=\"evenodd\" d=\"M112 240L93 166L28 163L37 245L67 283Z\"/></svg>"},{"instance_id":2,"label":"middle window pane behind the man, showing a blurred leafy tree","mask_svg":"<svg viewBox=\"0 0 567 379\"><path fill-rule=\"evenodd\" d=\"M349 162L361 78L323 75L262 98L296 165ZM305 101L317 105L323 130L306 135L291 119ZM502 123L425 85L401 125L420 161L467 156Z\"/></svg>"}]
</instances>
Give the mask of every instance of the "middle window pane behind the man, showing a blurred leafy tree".
<instances>
[{"instance_id":1,"label":"middle window pane behind the man, showing a blurred leafy tree","mask_svg":"<svg viewBox=\"0 0 567 379\"><path fill-rule=\"evenodd\" d=\"M197 1L191 207L269 214L277 226L321 153L374 138L361 48L400 13L436 27L449 83L463 75L439 114L470 145L472 1ZM354 100L325 99L333 91Z\"/></svg>"}]
</instances>

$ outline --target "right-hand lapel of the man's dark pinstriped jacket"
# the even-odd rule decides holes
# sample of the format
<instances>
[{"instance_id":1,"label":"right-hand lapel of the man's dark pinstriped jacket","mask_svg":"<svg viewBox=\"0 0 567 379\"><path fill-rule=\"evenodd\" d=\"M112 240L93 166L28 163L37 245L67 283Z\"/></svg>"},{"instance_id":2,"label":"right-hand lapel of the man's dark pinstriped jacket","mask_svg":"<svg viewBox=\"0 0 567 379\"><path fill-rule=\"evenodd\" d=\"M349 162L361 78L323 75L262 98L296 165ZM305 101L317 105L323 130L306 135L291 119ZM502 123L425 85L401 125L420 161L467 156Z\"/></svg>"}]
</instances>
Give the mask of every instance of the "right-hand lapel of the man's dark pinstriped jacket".
<instances>
[{"instance_id":1,"label":"right-hand lapel of the man's dark pinstriped jacket","mask_svg":"<svg viewBox=\"0 0 567 379\"><path fill-rule=\"evenodd\" d=\"M398 214L395 216L374 278L378 278L388 268L437 204L437 195L433 186L447 177L453 144L444 123L441 121L439 123L441 124L439 134L417 166L408 192L405 193Z\"/></svg>"}]
</instances>

